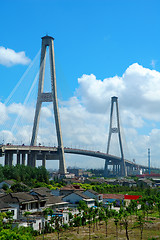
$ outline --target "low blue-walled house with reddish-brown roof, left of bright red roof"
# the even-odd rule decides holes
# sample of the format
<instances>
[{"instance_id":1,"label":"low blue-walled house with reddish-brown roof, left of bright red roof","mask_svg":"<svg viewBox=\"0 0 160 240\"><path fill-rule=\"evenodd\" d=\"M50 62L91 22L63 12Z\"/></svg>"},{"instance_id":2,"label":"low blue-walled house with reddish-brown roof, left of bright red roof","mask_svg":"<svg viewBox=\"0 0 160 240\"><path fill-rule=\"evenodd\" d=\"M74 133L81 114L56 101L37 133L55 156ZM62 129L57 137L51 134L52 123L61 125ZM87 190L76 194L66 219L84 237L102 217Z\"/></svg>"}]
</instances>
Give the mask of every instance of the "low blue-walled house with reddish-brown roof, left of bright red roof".
<instances>
[{"instance_id":1,"label":"low blue-walled house with reddish-brown roof, left of bright red roof","mask_svg":"<svg viewBox=\"0 0 160 240\"><path fill-rule=\"evenodd\" d=\"M103 205L107 206L109 203L116 203L116 206L120 206L120 202L123 202L124 195L123 194L103 194Z\"/></svg>"}]
</instances>

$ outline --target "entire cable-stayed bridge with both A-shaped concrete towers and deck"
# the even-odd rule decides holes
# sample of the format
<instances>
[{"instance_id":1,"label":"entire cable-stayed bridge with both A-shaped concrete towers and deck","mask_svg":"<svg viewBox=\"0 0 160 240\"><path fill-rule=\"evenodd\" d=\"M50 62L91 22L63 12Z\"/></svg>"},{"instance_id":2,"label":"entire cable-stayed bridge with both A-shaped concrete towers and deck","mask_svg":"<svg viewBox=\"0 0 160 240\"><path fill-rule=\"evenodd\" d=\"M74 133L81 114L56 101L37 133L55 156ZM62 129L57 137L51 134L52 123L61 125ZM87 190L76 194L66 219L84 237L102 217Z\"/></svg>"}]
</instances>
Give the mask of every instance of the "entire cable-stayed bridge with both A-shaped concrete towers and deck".
<instances>
[{"instance_id":1,"label":"entire cable-stayed bridge with both A-shaped concrete towers and deck","mask_svg":"<svg viewBox=\"0 0 160 240\"><path fill-rule=\"evenodd\" d=\"M46 64L46 50L49 48L50 54L50 72L51 72L51 91L44 91L44 75L45 75L45 64ZM38 77L38 76L37 76ZM37 146L37 135L40 121L40 113L42 103L50 102L53 104L53 112L55 118L55 128L58 147L47 147L47 146ZM119 147L120 147L120 157L109 154L111 138L113 135L118 136ZM32 137L29 146L25 145L11 145L2 144L0 146L0 155L4 156L4 164L12 165L13 157L16 155L17 164L27 164L29 166L36 166L36 160L42 160L42 165L46 166L46 160L59 160L59 173L65 176L66 164L65 155L77 154L90 157L96 157L98 159L105 160L104 175L109 176L109 166L112 166L112 174L116 176L126 176L134 169L144 169L148 170L148 166L143 166L136 164L134 162L128 161L124 157L123 144L120 131L119 122L119 108L118 108L118 98L112 97L111 101L111 114L110 114L110 128L109 137L107 145L107 153L100 151L89 151L82 149L64 148L62 141L62 131L60 125L60 116L57 100L57 88L56 88L56 73L55 73L55 59L54 59L54 39L49 36L42 38L41 47L41 60L40 60L40 72L39 72L39 84L38 84L38 96L36 103L36 111L33 123ZM156 169L156 168L151 168Z\"/></svg>"}]
</instances>

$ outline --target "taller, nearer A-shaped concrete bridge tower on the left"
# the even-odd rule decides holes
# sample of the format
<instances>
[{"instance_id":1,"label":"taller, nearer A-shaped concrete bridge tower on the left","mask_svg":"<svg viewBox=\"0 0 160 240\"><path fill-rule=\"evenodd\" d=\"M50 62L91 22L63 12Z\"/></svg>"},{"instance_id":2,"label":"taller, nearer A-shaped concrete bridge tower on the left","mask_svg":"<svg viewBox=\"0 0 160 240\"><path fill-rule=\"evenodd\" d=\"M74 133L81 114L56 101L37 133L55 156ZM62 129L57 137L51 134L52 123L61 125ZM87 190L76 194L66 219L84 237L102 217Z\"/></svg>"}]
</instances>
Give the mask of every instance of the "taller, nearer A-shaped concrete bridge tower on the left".
<instances>
[{"instance_id":1,"label":"taller, nearer A-shaped concrete bridge tower on the left","mask_svg":"<svg viewBox=\"0 0 160 240\"><path fill-rule=\"evenodd\" d=\"M50 36L42 37L38 96L37 96L36 111L35 111L34 124L33 124L33 130L32 130L32 139L31 139L30 145L35 146L37 144L37 134L38 134L38 127L39 127L42 103L43 102L52 102L53 110L54 110L54 117L55 117L57 141L58 141L59 173L61 175L65 175L66 174L66 165L65 165L65 156L64 156L64 148L63 148L63 141L62 141L61 125L60 125L60 116L59 116L59 110L58 110L53 40L54 40L54 38L52 38ZM49 47L49 55L50 55L51 92L43 92L47 47Z\"/></svg>"}]
</instances>

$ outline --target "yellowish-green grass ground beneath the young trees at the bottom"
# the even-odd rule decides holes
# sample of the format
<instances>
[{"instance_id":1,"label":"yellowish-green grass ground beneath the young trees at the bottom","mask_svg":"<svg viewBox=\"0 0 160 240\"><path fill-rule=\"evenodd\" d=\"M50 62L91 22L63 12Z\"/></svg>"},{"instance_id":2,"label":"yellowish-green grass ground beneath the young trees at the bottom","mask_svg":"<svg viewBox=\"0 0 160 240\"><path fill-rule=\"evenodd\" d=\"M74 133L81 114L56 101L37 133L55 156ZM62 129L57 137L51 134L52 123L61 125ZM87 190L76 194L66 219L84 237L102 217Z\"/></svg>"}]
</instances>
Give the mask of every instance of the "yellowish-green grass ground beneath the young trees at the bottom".
<instances>
[{"instance_id":1,"label":"yellowish-green grass ground beneath the young trees at the bottom","mask_svg":"<svg viewBox=\"0 0 160 240\"><path fill-rule=\"evenodd\" d=\"M143 231L143 240L157 239L160 240L160 219L149 217L149 221L144 225ZM135 217L132 216L132 219L129 221L129 239L130 240L140 240L140 229L134 227ZM58 239L57 233L45 234L45 240L54 240ZM36 240L43 239L43 236L40 235L36 237ZM89 228L88 225L80 227L79 234L77 233L77 228L68 229L60 233L61 240L87 240L89 239ZM102 222L98 224L98 229L95 229L93 232L93 224L91 227L91 237L90 239L107 239L107 240L116 240L116 227L114 220L111 219L108 222L108 236L106 237L106 228L105 223ZM125 240L125 229L118 227L118 240Z\"/></svg>"}]
</instances>

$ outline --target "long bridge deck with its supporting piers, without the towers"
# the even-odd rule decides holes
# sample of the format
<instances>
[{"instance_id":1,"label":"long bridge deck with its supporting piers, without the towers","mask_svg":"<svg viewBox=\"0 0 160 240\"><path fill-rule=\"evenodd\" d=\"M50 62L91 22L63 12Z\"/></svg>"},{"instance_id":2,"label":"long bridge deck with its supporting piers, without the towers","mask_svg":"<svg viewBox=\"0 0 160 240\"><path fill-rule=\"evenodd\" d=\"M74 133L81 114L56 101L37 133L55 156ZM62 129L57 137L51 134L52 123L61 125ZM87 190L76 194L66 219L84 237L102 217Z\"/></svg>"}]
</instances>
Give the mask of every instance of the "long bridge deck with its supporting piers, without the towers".
<instances>
[{"instance_id":1,"label":"long bridge deck with its supporting piers, without the towers","mask_svg":"<svg viewBox=\"0 0 160 240\"><path fill-rule=\"evenodd\" d=\"M100 151L91 151L76 148L65 148L64 152L69 154L77 154L95 157L97 159L103 159L108 161L108 165L113 166L112 175L120 176L119 165L121 158L103 153ZM36 158L30 160L30 155L33 154ZM16 155L16 163L35 167L36 160L42 160L42 166L46 167L46 160L59 160L59 150L57 147L46 147L46 146L25 146L25 145L1 145L0 146L0 157L5 156L5 165L13 164L13 155ZM137 164L125 159L125 165L127 168L127 174L133 173L134 169L148 170L148 166ZM151 168L152 170L158 170L158 168ZM109 175L109 174L108 174ZM107 174L106 174L107 176Z\"/></svg>"}]
</instances>

